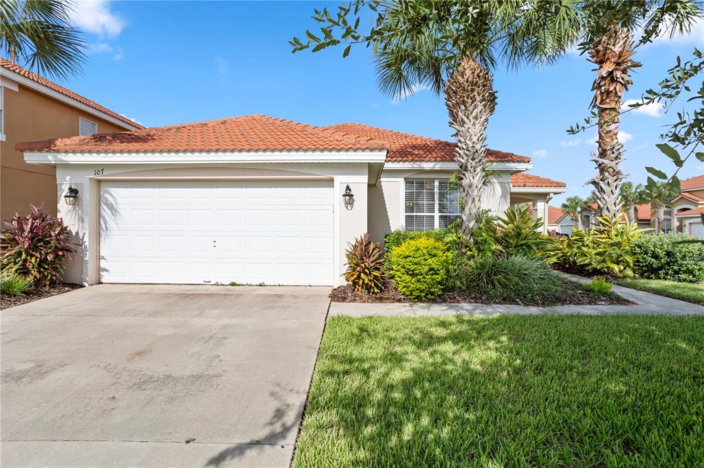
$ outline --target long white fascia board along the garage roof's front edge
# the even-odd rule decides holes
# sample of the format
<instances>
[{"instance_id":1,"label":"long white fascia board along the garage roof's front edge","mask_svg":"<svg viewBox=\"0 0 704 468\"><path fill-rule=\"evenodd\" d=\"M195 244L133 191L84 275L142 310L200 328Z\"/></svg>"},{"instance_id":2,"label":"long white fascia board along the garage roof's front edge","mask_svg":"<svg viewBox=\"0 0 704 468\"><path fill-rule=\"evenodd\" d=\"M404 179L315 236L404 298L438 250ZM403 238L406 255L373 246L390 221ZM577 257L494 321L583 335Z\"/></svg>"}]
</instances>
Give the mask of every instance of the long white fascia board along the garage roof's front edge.
<instances>
[{"instance_id":1,"label":"long white fascia board along the garage roof's front edge","mask_svg":"<svg viewBox=\"0 0 704 468\"><path fill-rule=\"evenodd\" d=\"M261 163L369 163L386 159L383 151L282 151L282 152L150 152L75 153L25 151L29 164L261 164Z\"/></svg>"}]
</instances>

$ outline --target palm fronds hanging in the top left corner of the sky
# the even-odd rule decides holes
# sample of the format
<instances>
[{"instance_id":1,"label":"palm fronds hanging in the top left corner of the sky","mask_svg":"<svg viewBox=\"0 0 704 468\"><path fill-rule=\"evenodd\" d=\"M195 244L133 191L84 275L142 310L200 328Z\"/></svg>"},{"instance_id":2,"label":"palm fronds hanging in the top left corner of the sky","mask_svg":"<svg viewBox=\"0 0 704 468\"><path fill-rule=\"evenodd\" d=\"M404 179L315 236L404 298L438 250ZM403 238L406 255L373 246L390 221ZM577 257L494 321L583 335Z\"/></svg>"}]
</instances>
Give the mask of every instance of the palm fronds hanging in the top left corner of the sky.
<instances>
[{"instance_id":1,"label":"palm fronds hanging in the top left corner of the sky","mask_svg":"<svg viewBox=\"0 0 704 468\"><path fill-rule=\"evenodd\" d=\"M1 0L0 51L39 74L77 74L87 43L71 26L71 11L68 0Z\"/></svg>"}]
</instances>

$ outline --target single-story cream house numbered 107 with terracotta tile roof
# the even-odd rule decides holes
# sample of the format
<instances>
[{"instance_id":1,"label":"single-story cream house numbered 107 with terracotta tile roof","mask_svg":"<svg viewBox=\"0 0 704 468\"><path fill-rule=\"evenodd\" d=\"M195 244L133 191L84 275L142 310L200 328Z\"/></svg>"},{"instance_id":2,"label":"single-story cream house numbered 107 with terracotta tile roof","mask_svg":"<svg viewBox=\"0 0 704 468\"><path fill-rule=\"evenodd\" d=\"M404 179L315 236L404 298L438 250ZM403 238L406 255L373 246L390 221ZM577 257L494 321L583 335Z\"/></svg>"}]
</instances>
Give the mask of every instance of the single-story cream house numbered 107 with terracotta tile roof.
<instances>
[{"instance_id":1,"label":"single-story cream house numbered 107 with terracotta tile roof","mask_svg":"<svg viewBox=\"0 0 704 468\"><path fill-rule=\"evenodd\" d=\"M459 216L454 143L360 124L246 115L22 143L56 167L58 214L80 246L65 281L339 285L365 232L448 226ZM482 204L501 214L565 184L530 158L488 150Z\"/></svg>"}]
</instances>

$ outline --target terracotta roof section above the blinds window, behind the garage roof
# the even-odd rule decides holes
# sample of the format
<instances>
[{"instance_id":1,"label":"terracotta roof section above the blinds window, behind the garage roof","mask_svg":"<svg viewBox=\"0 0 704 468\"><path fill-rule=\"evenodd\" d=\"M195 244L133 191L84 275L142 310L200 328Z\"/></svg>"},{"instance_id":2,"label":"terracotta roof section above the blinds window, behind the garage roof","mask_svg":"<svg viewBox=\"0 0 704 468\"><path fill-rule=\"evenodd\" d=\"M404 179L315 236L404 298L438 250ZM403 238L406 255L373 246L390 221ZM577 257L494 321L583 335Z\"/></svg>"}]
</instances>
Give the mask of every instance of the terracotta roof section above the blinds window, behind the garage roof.
<instances>
[{"instance_id":1,"label":"terracotta roof section above the blinds window, behind the garage roof","mask_svg":"<svg viewBox=\"0 0 704 468\"><path fill-rule=\"evenodd\" d=\"M372 138L389 143L387 162L452 162L455 160L455 143L400 131L379 129L363 124L345 123L326 126L340 135ZM486 160L490 162L530 162L527 156L512 152L486 150Z\"/></svg>"}]
</instances>

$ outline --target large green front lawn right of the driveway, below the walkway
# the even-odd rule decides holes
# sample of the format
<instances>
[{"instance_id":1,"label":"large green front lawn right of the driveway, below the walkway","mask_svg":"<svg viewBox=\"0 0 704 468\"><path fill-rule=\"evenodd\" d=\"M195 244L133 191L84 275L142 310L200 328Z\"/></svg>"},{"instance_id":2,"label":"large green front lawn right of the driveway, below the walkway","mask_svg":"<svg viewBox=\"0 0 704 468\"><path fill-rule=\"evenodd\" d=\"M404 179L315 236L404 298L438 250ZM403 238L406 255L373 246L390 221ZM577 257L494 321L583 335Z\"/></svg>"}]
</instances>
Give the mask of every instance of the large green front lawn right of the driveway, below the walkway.
<instances>
[{"instance_id":1,"label":"large green front lawn right of the driveway, below the walkway","mask_svg":"<svg viewBox=\"0 0 704 468\"><path fill-rule=\"evenodd\" d=\"M695 466L704 317L329 318L296 467Z\"/></svg>"}]
</instances>

